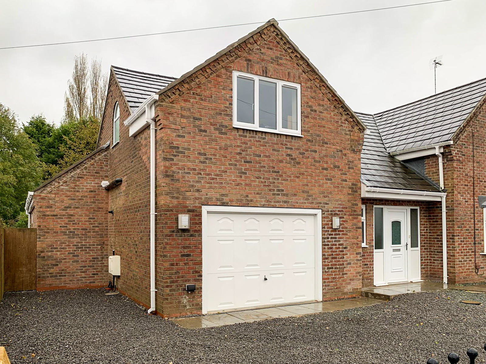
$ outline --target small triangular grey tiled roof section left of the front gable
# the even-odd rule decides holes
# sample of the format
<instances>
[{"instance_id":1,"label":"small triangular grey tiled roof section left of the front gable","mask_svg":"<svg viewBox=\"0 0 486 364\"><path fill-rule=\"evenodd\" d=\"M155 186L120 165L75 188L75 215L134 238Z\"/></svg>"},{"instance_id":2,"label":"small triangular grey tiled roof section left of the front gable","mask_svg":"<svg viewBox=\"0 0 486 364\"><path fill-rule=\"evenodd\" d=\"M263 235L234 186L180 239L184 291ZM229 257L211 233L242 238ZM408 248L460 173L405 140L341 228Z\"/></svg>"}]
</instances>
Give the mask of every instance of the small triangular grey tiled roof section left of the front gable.
<instances>
[{"instance_id":1,"label":"small triangular grey tiled roof section left of the front gable","mask_svg":"<svg viewBox=\"0 0 486 364\"><path fill-rule=\"evenodd\" d=\"M139 72L117 66L111 67L132 112L137 110L150 95L156 94L176 80L175 77Z\"/></svg>"}]
</instances>

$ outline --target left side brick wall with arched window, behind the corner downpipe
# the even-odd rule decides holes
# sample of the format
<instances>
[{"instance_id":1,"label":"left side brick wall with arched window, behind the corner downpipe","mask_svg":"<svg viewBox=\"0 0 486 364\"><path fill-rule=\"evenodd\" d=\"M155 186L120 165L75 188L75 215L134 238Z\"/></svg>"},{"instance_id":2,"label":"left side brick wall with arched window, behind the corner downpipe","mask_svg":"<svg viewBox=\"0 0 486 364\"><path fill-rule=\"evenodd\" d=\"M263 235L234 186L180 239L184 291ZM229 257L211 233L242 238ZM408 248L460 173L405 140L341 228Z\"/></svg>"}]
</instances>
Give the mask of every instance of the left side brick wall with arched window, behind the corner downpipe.
<instances>
[{"instance_id":1,"label":"left side brick wall with arched window, behind the corner downpipe","mask_svg":"<svg viewBox=\"0 0 486 364\"><path fill-rule=\"evenodd\" d=\"M150 131L143 130L135 137L128 136L123 121L130 110L113 74L108 85L104 119L99 145L113 142L113 112L120 105L120 142L110 148L108 180L122 178L120 186L108 193L108 244L121 256L121 276L117 288L130 298L147 306L150 303ZM162 244L159 240L158 245Z\"/></svg>"}]
</instances>

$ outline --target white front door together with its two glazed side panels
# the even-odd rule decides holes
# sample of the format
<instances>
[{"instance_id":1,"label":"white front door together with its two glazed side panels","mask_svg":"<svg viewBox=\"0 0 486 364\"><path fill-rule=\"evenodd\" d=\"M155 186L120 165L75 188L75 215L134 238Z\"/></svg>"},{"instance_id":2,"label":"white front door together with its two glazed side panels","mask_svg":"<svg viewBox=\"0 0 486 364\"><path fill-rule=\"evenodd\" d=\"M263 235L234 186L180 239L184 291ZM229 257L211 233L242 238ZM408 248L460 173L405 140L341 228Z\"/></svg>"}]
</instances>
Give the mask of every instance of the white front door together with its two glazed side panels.
<instances>
[{"instance_id":1,"label":"white front door together with its two glazed side panels","mask_svg":"<svg viewBox=\"0 0 486 364\"><path fill-rule=\"evenodd\" d=\"M374 283L420 281L417 207L374 206Z\"/></svg>"}]
</instances>

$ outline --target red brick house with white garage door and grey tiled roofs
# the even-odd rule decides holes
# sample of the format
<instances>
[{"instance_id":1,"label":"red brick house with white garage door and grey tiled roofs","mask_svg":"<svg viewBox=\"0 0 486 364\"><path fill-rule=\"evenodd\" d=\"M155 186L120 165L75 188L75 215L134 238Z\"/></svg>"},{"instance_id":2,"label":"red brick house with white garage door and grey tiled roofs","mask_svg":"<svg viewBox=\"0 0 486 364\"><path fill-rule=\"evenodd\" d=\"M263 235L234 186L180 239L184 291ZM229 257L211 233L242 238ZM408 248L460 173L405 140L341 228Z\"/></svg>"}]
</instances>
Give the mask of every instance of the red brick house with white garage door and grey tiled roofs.
<instances>
[{"instance_id":1,"label":"red brick house with white garage door and grey tiled roofs","mask_svg":"<svg viewBox=\"0 0 486 364\"><path fill-rule=\"evenodd\" d=\"M353 297L447 274L480 281L465 266L482 262L483 215L475 195L464 198L469 172L454 164L469 158L464 135L484 111L444 134L457 142L433 136L417 149L400 144L416 133L405 129L409 109L354 113L275 20L180 78L112 66L100 148L26 202L38 289L105 285L112 249L119 290L165 316ZM449 228L474 204L476 255L464 225Z\"/></svg>"}]
</instances>

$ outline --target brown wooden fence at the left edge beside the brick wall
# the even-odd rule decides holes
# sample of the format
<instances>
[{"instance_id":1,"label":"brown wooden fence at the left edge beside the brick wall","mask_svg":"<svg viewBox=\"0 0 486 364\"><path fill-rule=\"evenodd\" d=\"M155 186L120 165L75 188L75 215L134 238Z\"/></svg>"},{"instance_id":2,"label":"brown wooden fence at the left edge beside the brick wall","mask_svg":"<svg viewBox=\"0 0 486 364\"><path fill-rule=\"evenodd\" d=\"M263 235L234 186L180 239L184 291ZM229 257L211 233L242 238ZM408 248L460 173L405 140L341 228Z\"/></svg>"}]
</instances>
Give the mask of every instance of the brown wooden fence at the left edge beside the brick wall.
<instances>
[{"instance_id":1,"label":"brown wooden fence at the left edge beside the brick wall","mask_svg":"<svg viewBox=\"0 0 486 364\"><path fill-rule=\"evenodd\" d=\"M0 297L36 288L37 229L0 229Z\"/></svg>"}]
</instances>

